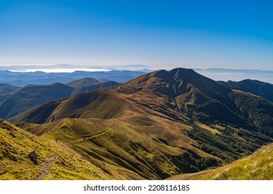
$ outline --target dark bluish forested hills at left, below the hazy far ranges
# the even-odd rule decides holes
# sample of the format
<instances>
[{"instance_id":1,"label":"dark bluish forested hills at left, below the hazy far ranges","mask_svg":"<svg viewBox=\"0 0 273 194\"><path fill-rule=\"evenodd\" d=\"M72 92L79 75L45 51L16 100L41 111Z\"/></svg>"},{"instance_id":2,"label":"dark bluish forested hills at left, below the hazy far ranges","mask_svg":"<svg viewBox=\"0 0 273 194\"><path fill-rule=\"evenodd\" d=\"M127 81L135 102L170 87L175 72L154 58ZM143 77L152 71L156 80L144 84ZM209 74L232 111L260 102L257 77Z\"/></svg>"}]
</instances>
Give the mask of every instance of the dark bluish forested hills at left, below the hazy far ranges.
<instances>
[{"instance_id":1,"label":"dark bluish forested hills at left, below the hazy far ranges","mask_svg":"<svg viewBox=\"0 0 273 194\"><path fill-rule=\"evenodd\" d=\"M49 100L58 100L93 89L115 87L117 85L119 83L114 81L99 81L94 78L83 78L69 82L67 85L54 83L52 85L26 85L22 88L1 84L0 118L7 119L16 116Z\"/></svg>"}]
</instances>

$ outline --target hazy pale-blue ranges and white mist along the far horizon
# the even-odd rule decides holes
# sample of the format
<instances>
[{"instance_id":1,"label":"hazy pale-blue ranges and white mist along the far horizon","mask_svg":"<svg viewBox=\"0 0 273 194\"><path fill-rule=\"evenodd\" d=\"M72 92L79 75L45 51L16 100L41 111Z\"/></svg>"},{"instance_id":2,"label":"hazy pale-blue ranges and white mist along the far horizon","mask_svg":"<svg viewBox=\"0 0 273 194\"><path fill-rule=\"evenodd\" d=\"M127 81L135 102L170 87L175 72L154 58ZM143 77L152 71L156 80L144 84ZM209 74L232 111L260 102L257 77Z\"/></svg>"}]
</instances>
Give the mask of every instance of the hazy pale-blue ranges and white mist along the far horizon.
<instances>
[{"instance_id":1,"label":"hazy pale-blue ranges and white mist along the far horizon","mask_svg":"<svg viewBox=\"0 0 273 194\"><path fill-rule=\"evenodd\" d=\"M273 84L273 71L217 68L194 70L203 76L217 81L240 81L251 79ZM44 73L43 71L48 73ZM8 83L10 85L22 87L29 84L50 85L56 82L65 84L81 78L95 78L97 80L104 78L106 80L124 83L151 71L154 71L153 67L145 65L126 65L116 67L88 67L71 64L47 66L0 66L0 83Z\"/></svg>"}]
</instances>

